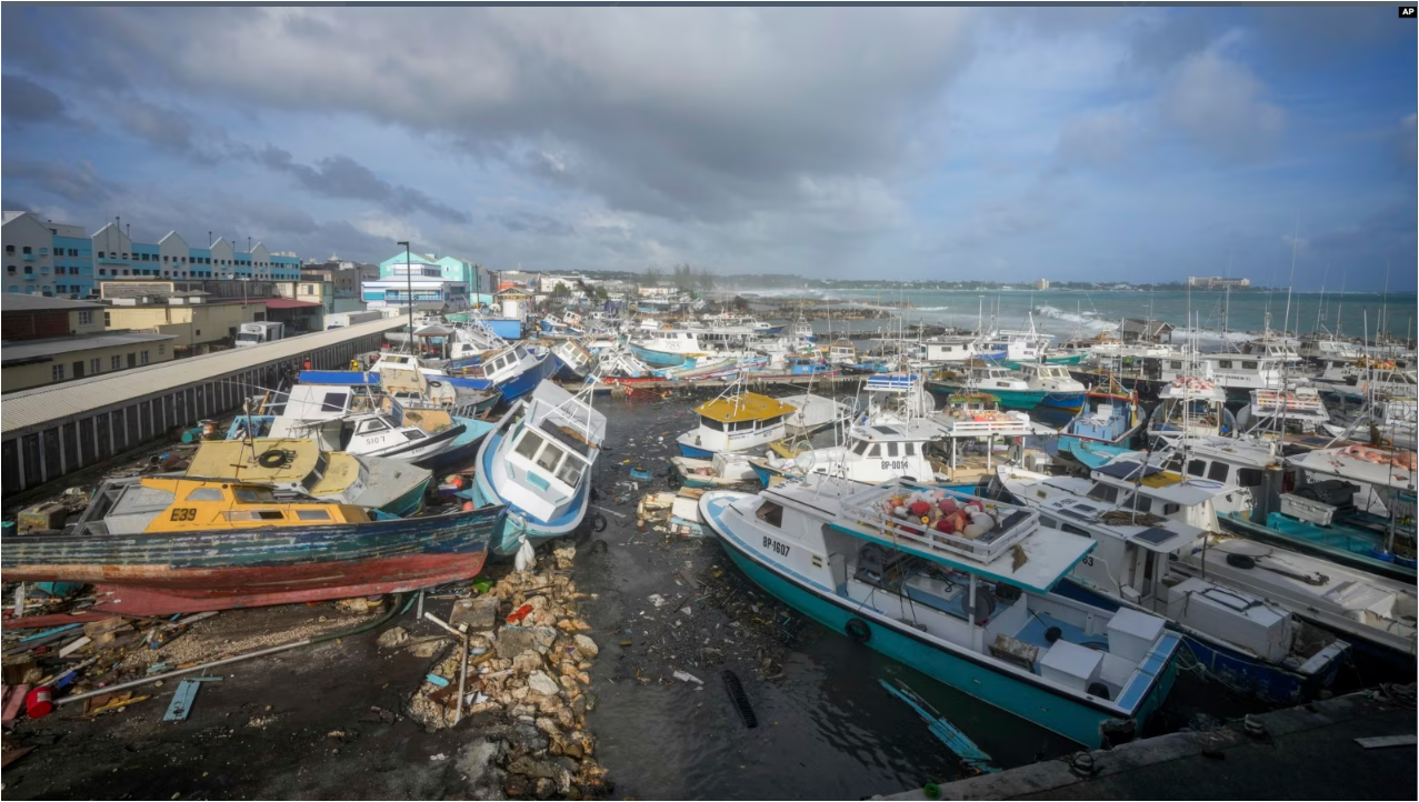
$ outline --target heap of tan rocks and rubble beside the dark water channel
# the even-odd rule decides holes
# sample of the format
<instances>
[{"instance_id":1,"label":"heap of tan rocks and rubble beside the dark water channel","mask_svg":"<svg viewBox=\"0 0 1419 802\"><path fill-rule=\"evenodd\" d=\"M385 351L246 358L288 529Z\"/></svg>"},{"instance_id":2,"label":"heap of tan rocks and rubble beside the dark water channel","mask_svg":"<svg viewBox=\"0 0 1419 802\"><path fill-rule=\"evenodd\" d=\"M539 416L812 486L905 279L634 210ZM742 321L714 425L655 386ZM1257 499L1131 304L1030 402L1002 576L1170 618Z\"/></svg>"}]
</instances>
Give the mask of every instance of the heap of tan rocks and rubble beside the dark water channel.
<instances>
[{"instance_id":1,"label":"heap of tan rocks and rubble beside the dark water channel","mask_svg":"<svg viewBox=\"0 0 1419 802\"><path fill-rule=\"evenodd\" d=\"M558 545L532 571L509 571L457 602L446 646L409 701L410 718L427 728L465 725L495 742L509 798L587 799L612 788L586 732L600 649L578 613L585 595L568 575L575 555L575 545ZM407 637L394 627L380 644L407 646Z\"/></svg>"}]
</instances>

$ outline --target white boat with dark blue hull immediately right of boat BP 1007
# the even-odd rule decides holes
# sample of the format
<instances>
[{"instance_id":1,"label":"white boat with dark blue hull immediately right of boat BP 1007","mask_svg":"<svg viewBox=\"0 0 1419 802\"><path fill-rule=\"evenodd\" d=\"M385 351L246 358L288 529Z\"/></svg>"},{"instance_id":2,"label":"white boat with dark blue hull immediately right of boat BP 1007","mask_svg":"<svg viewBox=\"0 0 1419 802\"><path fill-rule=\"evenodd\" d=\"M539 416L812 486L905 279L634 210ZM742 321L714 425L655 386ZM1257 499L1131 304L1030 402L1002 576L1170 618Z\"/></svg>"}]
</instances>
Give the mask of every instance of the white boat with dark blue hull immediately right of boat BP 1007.
<instances>
[{"instance_id":1,"label":"white boat with dark blue hull immediately right of boat BP 1007","mask_svg":"<svg viewBox=\"0 0 1419 802\"><path fill-rule=\"evenodd\" d=\"M1127 478L1131 470L1142 471L1142 464L1120 461L1100 476ZM1152 511L1210 497L1192 491L1182 476L1139 474L1137 487L1118 487L1002 466L999 480L1020 504L1039 511L1046 528L1098 544L1074 566L1060 593L1166 617L1213 677L1271 704L1308 701L1334 683L1348 657L1345 642L1264 596L1174 571L1179 555L1196 548L1206 532Z\"/></svg>"}]
</instances>

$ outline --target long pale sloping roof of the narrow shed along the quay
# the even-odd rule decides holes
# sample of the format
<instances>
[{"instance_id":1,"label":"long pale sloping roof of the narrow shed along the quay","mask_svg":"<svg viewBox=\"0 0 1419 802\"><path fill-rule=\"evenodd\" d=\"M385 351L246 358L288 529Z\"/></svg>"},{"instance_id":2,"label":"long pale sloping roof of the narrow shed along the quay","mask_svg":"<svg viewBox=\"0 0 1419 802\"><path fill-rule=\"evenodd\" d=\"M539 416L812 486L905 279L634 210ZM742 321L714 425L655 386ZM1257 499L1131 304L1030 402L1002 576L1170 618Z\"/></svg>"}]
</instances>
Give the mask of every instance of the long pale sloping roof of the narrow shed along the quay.
<instances>
[{"instance_id":1,"label":"long pale sloping roof of the narrow shed along the quay","mask_svg":"<svg viewBox=\"0 0 1419 802\"><path fill-rule=\"evenodd\" d=\"M190 359L173 359L160 365L9 393L4 396L4 403L0 403L0 424L3 424L0 432L9 434L30 426L81 414L91 409L122 403L128 399L206 382L253 365L289 359L318 348L385 332L400 325L403 325L402 319L368 321L264 345L233 348Z\"/></svg>"}]
</instances>

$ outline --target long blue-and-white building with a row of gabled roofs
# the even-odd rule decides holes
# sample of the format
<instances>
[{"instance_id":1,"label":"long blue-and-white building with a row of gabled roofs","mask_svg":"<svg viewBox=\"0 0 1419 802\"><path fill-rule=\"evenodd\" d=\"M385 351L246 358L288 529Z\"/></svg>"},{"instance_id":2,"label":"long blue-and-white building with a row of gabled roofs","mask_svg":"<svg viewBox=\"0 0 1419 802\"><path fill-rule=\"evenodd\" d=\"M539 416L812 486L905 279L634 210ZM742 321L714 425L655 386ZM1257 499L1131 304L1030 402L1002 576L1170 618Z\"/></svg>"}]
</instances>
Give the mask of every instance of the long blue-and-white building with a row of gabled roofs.
<instances>
[{"instance_id":1,"label":"long blue-and-white building with a row of gabled roofs","mask_svg":"<svg viewBox=\"0 0 1419 802\"><path fill-rule=\"evenodd\" d=\"M295 254L261 243L238 251L226 237L192 247L170 231L156 243L135 243L118 223L88 236L82 226L41 220L31 212L6 212L0 233L6 292L85 298L99 281L112 278L301 277Z\"/></svg>"}]
</instances>

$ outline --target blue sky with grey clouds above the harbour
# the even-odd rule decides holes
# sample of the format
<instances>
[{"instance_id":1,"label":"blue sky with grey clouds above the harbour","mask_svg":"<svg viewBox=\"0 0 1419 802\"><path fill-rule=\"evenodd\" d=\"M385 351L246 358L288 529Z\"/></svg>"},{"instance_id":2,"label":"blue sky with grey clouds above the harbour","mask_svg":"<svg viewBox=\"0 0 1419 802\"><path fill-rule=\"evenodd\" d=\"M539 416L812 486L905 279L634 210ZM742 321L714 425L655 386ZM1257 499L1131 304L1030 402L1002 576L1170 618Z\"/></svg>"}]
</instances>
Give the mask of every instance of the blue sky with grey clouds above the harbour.
<instances>
[{"instance_id":1,"label":"blue sky with grey clouds above the harbour","mask_svg":"<svg viewBox=\"0 0 1419 802\"><path fill-rule=\"evenodd\" d=\"M3 10L3 202L505 270L1415 285L1348 9ZM1273 278L1274 277L1274 278Z\"/></svg>"}]
</instances>

